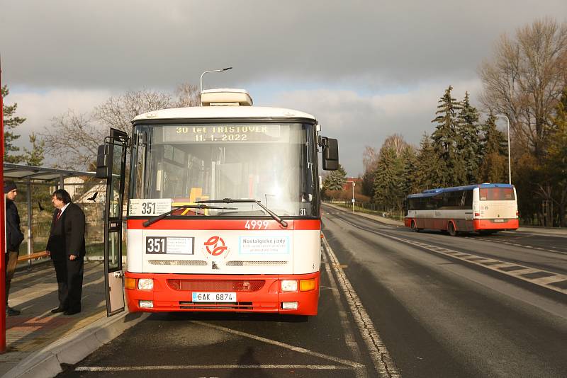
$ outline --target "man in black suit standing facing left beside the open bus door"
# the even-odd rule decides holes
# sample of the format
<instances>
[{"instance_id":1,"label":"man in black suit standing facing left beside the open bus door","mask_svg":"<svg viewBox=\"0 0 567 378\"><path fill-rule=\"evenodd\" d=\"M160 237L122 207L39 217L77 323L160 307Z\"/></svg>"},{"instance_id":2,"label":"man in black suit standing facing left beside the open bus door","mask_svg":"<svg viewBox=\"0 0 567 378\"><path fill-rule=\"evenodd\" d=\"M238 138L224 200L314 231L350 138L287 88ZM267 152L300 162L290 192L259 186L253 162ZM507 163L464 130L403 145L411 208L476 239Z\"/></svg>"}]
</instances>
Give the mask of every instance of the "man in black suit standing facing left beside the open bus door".
<instances>
[{"instance_id":1,"label":"man in black suit standing facing left beside the open bus door","mask_svg":"<svg viewBox=\"0 0 567 378\"><path fill-rule=\"evenodd\" d=\"M51 202L55 206L47 253L50 254L57 285L59 285L59 307L51 312L73 315L81 312L81 293L83 289L83 260L85 254L84 212L71 202L66 190L53 192Z\"/></svg>"}]
</instances>

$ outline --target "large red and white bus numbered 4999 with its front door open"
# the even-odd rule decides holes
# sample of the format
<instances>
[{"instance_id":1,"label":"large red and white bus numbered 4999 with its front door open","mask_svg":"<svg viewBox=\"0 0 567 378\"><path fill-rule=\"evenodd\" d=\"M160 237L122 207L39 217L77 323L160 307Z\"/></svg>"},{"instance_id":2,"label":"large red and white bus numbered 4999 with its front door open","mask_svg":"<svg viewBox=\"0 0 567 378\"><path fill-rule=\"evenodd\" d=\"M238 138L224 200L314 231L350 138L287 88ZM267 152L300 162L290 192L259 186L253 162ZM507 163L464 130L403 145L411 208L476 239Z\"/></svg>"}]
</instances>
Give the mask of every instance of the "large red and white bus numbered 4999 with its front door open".
<instances>
[{"instance_id":1,"label":"large red and white bus numbered 4999 with its front door open","mask_svg":"<svg viewBox=\"0 0 567 378\"><path fill-rule=\"evenodd\" d=\"M337 140L318 135L313 115L254 107L246 91L203 91L201 103L138 115L132 137L111 130L99 147L97 174L107 178L108 315L124 307L126 148L130 311L316 315L317 153L321 147L323 169L337 169Z\"/></svg>"}]
</instances>

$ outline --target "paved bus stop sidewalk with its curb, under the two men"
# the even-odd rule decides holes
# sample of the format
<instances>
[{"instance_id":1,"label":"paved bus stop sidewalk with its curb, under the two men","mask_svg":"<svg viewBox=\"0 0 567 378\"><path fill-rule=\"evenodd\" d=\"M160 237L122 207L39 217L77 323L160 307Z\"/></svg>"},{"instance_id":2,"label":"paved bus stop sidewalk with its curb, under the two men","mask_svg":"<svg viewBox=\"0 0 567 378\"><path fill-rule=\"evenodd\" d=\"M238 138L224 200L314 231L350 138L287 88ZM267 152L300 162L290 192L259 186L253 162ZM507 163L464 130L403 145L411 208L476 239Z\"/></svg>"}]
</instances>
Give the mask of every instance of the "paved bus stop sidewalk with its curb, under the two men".
<instances>
[{"instance_id":1,"label":"paved bus stop sidewalk with its curb, under the two men","mask_svg":"<svg viewBox=\"0 0 567 378\"><path fill-rule=\"evenodd\" d=\"M13 277L9 304L21 311L6 317L6 353L0 355L0 377L55 377L61 364L74 364L145 319L147 314L106 317L102 261L85 261L82 312L52 314L57 281L51 262L19 270Z\"/></svg>"}]
</instances>

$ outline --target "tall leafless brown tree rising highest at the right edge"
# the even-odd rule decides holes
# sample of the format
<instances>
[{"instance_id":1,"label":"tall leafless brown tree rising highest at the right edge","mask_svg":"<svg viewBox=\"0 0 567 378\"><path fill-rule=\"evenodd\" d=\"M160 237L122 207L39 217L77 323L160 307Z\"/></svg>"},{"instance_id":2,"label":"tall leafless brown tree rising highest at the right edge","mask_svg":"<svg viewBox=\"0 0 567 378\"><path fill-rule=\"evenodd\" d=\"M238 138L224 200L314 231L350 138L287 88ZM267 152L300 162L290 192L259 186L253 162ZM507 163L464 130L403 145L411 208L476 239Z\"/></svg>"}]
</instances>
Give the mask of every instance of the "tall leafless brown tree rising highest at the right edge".
<instances>
[{"instance_id":1,"label":"tall leafless brown tree rising highest at the right edge","mask_svg":"<svg viewBox=\"0 0 567 378\"><path fill-rule=\"evenodd\" d=\"M551 18L503 35L493 58L479 68L481 102L492 113L510 118L514 140L541 159L549 119L567 84L567 23Z\"/></svg>"}]
</instances>

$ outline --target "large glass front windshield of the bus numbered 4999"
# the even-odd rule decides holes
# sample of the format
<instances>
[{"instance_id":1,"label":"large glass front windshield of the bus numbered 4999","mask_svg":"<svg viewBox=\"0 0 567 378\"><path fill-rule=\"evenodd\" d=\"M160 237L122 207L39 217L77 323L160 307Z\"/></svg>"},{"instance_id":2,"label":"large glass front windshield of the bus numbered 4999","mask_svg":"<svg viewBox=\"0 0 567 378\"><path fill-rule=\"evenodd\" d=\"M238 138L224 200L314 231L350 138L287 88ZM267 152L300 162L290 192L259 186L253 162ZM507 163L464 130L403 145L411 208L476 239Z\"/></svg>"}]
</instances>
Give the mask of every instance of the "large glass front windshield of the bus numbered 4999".
<instances>
[{"instance_id":1,"label":"large glass front windshield of the bus numbered 4999","mask_svg":"<svg viewBox=\"0 0 567 378\"><path fill-rule=\"evenodd\" d=\"M130 198L173 205L246 198L280 216L315 216L314 139L313 125L301 123L137 125ZM236 209L183 215L267 215L254 203L225 206Z\"/></svg>"}]
</instances>

